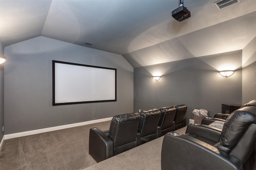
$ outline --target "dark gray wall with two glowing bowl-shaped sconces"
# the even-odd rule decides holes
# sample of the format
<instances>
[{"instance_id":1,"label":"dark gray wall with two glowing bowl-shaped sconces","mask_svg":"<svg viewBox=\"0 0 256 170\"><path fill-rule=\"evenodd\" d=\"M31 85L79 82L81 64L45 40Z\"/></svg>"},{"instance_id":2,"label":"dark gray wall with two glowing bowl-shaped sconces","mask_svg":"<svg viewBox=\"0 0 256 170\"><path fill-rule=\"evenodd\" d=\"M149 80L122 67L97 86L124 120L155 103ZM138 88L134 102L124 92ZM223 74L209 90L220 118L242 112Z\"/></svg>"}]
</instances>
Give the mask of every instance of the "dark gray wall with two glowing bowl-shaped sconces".
<instances>
[{"instance_id":1,"label":"dark gray wall with two glowing bowl-shaped sconces","mask_svg":"<svg viewBox=\"0 0 256 170\"><path fill-rule=\"evenodd\" d=\"M230 77L218 70L236 69ZM228 67L230 65L232 68ZM206 109L213 117L221 104L242 104L242 50L134 68L134 111L186 104L186 117ZM152 78L162 74L160 80Z\"/></svg>"}]
</instances>

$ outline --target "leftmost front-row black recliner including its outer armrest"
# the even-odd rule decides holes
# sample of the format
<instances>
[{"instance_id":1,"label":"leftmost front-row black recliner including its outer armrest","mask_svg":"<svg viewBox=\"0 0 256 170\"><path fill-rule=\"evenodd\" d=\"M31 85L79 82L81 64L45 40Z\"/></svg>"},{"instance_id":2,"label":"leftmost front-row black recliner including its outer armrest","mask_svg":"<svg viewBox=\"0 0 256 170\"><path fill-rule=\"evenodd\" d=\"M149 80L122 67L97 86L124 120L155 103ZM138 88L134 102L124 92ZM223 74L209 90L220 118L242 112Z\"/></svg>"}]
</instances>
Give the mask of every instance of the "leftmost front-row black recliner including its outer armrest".
<instances>
[{"instance_id":1,"label":"leftmost front-row black recliner including its outer armrest","mask_svg":"<svg viewBox=\"0 0 256 170\"><path fill-rule=\"evenodd\" d=\"M89 154L100 162L137 146L136 136L140 123L139 113L115 115L109 131L90 129Z\"/></svg>"}]
</instances>

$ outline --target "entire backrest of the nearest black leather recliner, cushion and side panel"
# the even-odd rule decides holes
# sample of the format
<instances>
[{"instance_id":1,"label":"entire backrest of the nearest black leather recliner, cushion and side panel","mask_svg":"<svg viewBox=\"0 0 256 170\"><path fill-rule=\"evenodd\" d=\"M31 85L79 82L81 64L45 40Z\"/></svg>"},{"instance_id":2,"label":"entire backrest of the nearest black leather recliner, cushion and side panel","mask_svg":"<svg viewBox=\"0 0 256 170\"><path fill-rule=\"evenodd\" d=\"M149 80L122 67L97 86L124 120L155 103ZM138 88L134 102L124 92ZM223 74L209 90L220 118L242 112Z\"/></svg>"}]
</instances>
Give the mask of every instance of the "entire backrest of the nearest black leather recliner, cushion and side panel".
<instances>
[{"instance_id":1,"label":"entire backrest of the nearest black leather recliner, cushion and side panel","mask_svg":"<svg viewBox=\"0 0 256 170\"><path fill-rule=\"evenodd\" d=\"M226 119L220 136L222 150L244 165L256 146L256 107L246 106L233 111Z\"/></svg>"}]
</instances>

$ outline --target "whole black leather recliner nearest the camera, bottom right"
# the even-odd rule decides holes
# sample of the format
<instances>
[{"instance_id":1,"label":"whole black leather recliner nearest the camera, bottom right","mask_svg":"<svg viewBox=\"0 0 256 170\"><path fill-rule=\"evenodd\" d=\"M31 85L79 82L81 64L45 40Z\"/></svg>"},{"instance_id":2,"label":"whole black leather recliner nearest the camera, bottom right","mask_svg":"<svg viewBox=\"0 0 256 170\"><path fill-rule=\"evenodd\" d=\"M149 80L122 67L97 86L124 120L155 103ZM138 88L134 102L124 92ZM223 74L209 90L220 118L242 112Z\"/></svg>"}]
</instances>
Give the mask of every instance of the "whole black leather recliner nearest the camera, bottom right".
<instances>
[{"instance_id":1,"label":"whole black leather recliner nearest the camera, bottom right","mask_svg":"<svg viewBox=\"0 0 256 170\"><path fill-rule=\"evenodd\" d=\"M222 131L207 125L188 125L186 135L164 137L161 168L252 169L255 162L256 107L242 107L226 119Z\"/></svg>"}]
</instances>

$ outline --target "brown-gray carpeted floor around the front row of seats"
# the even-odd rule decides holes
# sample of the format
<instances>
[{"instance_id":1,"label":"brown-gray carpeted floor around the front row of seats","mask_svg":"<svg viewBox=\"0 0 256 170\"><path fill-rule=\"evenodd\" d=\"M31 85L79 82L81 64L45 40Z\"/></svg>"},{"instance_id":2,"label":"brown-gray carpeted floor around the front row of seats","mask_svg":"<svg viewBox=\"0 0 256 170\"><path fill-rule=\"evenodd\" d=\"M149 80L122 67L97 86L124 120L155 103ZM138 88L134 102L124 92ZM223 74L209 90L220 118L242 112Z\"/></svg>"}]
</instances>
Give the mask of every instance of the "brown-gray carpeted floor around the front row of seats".
<instances>
[{"instance_id":1,"label":"brown-gray carpeted floor around the front row of seats","mask_svg":"<svg viewBox=\"0 0 256 170\"><path fill-rule=\"evenodd\" d=\"M0 170L157 170L163 137L97 162L88 154L89 130L108 130L110 121L4 141ZM186 129L179 129L184 134Z\"/></svg>"}]
</instances>

